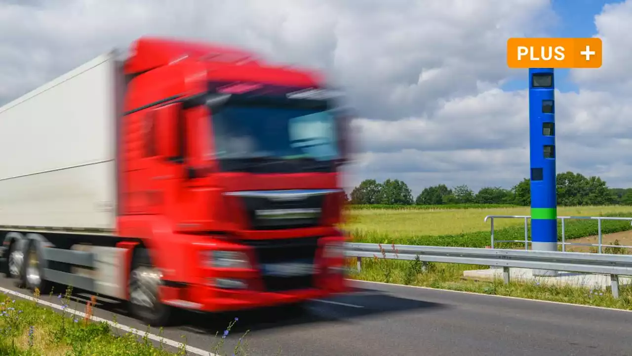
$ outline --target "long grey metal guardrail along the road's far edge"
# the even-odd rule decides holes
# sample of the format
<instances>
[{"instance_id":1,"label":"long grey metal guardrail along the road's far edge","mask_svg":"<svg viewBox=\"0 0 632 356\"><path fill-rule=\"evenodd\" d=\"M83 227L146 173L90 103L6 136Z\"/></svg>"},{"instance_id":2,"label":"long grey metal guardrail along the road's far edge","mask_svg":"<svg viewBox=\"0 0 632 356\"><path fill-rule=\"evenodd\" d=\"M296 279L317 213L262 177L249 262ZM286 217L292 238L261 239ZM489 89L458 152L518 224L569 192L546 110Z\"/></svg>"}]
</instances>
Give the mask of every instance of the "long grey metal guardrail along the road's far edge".
<instances>
[{"instance_id":1,"label":"long grey metal guardrail along the road's far edge","mask_svg":"<svg viewBox=\"0 0 632 356\"><path fill-rule=\"evenodd\" d=\"M389 245L385 249L378 243L346 243L344 254L357 258L358 271L362 257L413 261L418 256L422 262L497 266L503 269L504 283L509 283L510 267L609 274L614 298L619 297L619 276L632 276L632 255L414 245Z\"/></svg>"}]
</instances>

